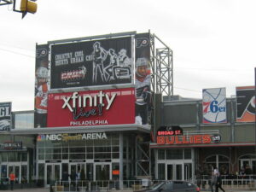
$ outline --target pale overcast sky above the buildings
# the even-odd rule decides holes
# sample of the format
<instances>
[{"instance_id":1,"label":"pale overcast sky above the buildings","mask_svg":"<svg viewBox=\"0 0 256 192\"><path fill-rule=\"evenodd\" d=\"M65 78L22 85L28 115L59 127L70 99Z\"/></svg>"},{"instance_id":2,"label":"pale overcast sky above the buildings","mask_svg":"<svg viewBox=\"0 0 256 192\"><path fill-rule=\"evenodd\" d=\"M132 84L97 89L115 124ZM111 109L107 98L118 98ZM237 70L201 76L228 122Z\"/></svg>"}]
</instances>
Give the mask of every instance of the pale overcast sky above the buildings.
<instances>
[{"instance_id":1,"label":"pale overcast sky above the buildings","mask_svg":"<svg viewBox=\"0 0 256 192\"><path fill-rule=\"evenodd\" d=\"M17 0L18 2L20 0ZM0 6L0 102L33 109L35 46L50 40L150 32L173 50L174 94L254 84L255 0L38 0L38 12ZM19 7L19 6L18 6Z\"/></svg>"}]
</instances>

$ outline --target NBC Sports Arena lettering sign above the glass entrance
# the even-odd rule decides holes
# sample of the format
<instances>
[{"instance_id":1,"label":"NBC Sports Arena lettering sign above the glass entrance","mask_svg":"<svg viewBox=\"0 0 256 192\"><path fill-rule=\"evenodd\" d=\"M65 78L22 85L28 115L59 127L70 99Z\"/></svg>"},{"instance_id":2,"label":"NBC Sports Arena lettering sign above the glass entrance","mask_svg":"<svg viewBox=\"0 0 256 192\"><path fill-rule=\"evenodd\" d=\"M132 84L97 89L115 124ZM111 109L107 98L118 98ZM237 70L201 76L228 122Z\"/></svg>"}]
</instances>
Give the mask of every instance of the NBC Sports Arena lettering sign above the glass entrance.
<instances>
[{"instance_id":1,"label":"NBC Sports Arena lettering sign above the glass entrance","mask_svg":"<svg viewBox=\"0 0 256 192\"><path fill-rule=\"evenodd\" d=\"M38 135L38 142L41 141L82 141L82 140L96 140L96 139L108 139L105 132L98 133L80 133L69 135L67 133L64 134L51 134L51 135Z\"/></svg>"}]
</instances>

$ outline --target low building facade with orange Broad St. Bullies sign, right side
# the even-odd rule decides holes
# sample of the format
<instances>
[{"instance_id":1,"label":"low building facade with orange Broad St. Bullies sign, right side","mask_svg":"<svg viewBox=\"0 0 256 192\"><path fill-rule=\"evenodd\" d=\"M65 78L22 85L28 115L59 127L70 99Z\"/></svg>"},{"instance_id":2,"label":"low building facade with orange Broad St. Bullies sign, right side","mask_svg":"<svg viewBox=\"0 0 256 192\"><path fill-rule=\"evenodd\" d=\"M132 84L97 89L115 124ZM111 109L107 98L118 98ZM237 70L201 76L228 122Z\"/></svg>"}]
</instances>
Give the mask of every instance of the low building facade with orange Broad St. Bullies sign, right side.
<instances>
[{"instance_id":1,"label":"low building facade with orange Broad St. Bullies sign, right side","mask_svg":"<svg viewBox=\"0 0 256 192\"><path fill-rule=\"evenodd\" d=\"M226 101L227 121L203 124L202 100L176 96L161 102L160 122L175 131L154 130L154 173L158 179L189 179L200 170L211 175L256 174L255 123L236 121L236 98ZM178 134L183 131L182 134ZM243 173L242 173L243 174Z\"/></svg>"}]
</instances>

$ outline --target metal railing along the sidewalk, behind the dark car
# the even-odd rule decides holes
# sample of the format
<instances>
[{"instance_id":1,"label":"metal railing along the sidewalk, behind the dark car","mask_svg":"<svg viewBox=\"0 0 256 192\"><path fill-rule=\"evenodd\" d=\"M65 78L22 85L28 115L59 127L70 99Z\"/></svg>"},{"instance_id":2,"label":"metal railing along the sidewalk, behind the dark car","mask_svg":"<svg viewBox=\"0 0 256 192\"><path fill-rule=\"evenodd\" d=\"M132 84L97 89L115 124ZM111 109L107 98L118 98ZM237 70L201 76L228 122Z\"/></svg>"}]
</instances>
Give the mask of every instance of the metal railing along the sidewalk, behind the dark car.
<instances>
[{"instance_id":1,"label":"metal railing along the sidewalk, behind the dark car","mask_svg":"<svg viewBox=\"0 0 256 192\"><path fill-rule=\"evenodd\" d=\"M147 189L154 183L162 180L124 180L120 185L119 180L102 180L102 181L57 181L55 185L50 186L52 192L55 191L137 191ZM201 190L211 189L211 177L203 175L201 178L193 177L189 182L197 184ZM122 186L122 189L120 189ZM256 189L256 175L248 176L222 176L222 187L224 189Z\"/></svg>"}]
</instances>

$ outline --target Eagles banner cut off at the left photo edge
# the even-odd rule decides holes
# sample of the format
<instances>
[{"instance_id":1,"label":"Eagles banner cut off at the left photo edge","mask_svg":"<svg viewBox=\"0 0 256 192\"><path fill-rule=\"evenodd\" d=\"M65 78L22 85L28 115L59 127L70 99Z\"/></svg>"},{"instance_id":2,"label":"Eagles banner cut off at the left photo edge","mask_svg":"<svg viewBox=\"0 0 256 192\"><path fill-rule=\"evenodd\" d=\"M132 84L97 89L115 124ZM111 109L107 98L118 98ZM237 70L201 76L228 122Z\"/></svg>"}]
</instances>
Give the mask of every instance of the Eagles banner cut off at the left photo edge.
<instances>
[{"instance_id":1,"label":"Eagles banner cut off at the left photo edge","mask_svg":"<svg viewBox=\"0 0 256 192\"><path fill-rule=\"evenodd\" d=\"M11 102L0 102L0 131L9 131L11 126Z\"/></svg>"}]
</instances>

